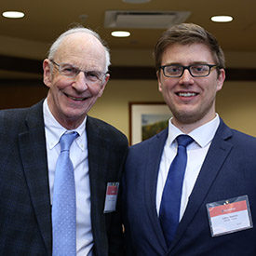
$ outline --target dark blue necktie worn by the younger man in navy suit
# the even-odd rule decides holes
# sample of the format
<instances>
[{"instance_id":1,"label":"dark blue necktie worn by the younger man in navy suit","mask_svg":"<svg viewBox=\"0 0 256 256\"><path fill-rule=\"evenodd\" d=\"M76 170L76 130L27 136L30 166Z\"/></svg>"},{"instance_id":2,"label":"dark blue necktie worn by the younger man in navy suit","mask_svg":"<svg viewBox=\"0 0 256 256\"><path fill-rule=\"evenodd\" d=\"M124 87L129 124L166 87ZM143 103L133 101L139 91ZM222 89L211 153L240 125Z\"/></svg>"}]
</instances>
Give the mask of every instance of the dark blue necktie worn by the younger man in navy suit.
<instances>
[{"instance_id":1,"label":"dark blue necktie worn by the younger man in navy suit","mask_svg":"<svg viewBox=\"0 0 256 256\"><path fill-rule=\"evenodd\" d=\"M178 152L168 170L168 178L159 211L159 220L168 247L179 225L182 184L187 163L186 147L194 141L188 135L180 135L176 140L178 142Z\"/></svg>"}]
</instances>

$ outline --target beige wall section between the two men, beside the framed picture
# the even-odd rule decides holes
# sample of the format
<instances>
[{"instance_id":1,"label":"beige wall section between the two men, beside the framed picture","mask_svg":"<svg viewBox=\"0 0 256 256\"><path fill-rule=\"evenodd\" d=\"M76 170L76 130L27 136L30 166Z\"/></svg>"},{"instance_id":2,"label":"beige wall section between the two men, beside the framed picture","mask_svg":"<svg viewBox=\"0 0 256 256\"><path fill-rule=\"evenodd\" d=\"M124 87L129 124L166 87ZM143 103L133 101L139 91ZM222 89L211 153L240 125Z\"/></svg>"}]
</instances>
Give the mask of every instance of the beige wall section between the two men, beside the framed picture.
<instances>
[{"instance_id":1,"label":"beige wall section between the two men, beside the framed picture","mask_svg":"<svg viewBox=\"0 0 256 256\"><path fill-rule=\"evenodd\" d=\"M153 80L114 80L107 84L102 97L90 110L89 115L111 123L128 134L129 101L163 101Z\"/></svg>"}]
</instances>

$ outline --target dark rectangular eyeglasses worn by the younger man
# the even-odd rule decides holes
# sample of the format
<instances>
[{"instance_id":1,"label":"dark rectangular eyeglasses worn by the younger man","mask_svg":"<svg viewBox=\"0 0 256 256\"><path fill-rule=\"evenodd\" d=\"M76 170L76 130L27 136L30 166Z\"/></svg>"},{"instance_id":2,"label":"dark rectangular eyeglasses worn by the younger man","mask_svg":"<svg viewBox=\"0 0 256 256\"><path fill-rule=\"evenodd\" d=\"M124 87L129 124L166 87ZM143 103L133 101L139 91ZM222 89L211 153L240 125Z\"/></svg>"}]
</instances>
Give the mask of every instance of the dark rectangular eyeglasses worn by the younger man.
<instances>
[{"instance_id":1,"label":"dark rectangular eyeglasses worn by the younger man","mask_svg":"<svg viewBox=\"0 0 256 256\"><path fill-rule=\"evenodd\" d=\"M163 73L167 77L181 77L184 73L184 70L187 69L193 77L204 77L208 76L210 71L215 68L221 68L218 65L209 65L209 64L194 64L189 66L182 65L165 65L159 67L163 70Z\"/></svg>"}]
</instances>

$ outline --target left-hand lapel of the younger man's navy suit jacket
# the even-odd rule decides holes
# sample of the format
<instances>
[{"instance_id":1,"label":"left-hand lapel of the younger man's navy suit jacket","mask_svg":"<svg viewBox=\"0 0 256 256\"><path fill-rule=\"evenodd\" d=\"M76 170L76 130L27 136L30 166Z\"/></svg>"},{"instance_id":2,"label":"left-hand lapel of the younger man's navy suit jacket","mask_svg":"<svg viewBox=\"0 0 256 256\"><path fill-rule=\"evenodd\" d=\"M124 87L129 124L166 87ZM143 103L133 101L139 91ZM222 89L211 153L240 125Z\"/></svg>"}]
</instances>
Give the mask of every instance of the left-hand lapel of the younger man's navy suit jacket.
<instances>
[{"instance_id":1,"label":"left-hand lapel of the younger man's navy suit jacket","mask_svg":"<svg viewBox=\"0 0 256 256\"><path fill-rule=\"evenodd\" d=\"M157 134L150 141L148 146L148 154L146 158L145 168L145 201L147 211L155 230L155 236L157 237L160 245L163 249L167 249L166 240L163 236L162 228L155 209L155 196L156 196L156 183L158 177L158 171L160 167L161 156L165 146L165 142L168 136L168 128Z\"/></svg>"}]
</instances>

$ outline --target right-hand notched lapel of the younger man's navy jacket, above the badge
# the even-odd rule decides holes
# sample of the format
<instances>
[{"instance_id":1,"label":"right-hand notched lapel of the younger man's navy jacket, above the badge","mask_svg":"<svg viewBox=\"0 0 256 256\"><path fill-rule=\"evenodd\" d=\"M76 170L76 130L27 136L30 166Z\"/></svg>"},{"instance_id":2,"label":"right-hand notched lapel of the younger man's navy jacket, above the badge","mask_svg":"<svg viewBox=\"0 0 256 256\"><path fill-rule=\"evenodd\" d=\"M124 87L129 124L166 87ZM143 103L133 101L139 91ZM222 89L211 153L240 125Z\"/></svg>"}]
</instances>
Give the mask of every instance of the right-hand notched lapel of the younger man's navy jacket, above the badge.
<instances>
[{"instance_id":1,"label":"right-hand notched lapel of the younger man's navy jacket, above the badge","mask_svg":"<svg viewBox=\"0 0 256 256\"><path fill-rule=\"evenodd\" d=\"M201 207L205 197L208 195L211 184L214 182L222 168L223 162L232 149L233 145L230 142L225 141L231 136L232 133L230 128L226 127L221 119L221 124L211 142L209 152L195 182L194 189L189 197L187 208L184 212L182 221L179 224L177 235L174 238L170 249L172 249L181 239L187 226L193 221L196 211Z\"/></svg>"}]
</instances>

